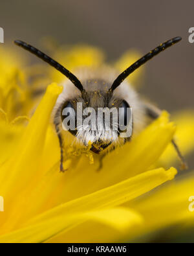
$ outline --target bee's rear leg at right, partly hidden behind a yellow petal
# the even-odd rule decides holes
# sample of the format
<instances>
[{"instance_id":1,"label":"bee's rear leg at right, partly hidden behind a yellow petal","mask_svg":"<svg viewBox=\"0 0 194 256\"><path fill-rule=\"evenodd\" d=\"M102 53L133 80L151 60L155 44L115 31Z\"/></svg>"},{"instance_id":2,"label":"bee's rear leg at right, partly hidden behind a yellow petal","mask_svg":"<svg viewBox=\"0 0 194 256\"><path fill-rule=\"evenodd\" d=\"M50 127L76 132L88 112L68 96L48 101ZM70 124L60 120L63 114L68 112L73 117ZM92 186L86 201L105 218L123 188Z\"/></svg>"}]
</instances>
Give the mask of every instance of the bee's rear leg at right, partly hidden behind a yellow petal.
<instances>
[{"instance_id":1,"label":"bee's rear leg at right, partly hidden behind a yellow petal","mask_svg":"<svg viewBox=\"0 0 194 256\"><path fill-rule=\"evenodd\" d=\"M160 113L161 113L161 110L159 110L158 108L156 108L152 104L146 104L147 117L150 117L151 119L156 119L160 116ZM175 142L175 139L172 139L171 143L174 146L175 151L177 152L178 158L180 159L181 169L182 170L188 169L186 159L184 159L184 156L182 156L182 153L180 152L180 149L178 148L178 145Z\"/></svg>"}]
</instances>

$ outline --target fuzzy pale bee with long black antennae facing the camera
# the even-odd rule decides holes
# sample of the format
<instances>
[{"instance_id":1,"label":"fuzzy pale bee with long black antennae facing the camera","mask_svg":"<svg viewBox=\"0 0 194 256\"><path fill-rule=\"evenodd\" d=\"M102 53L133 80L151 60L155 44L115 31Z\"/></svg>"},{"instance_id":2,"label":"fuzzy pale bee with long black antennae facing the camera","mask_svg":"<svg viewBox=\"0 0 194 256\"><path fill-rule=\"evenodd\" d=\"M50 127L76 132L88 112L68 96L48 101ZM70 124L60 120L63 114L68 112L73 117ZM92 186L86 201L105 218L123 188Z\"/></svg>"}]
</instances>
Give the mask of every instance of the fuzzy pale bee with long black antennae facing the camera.
<instances>
[{"instance_id":1,"label":"fuzzy pale bee with long black antennae facing the camera","mask_svg":"<svg viewBox=\"0 0 194 256\"><path fill-rule=\"evenodd\" d=\"M14 43L19 47L31 52L41 58L44 62L57 69L60 73L65 75L69 80L63 84L63 93L59 95L54 108L54 124L56 128L56 133L59 138L59 145L61 148L61 161L60 170L63 169L63 141L65 139L63 135L62 123L64 120L63 110L69 111L69 118L76 119L75 114L78 111L76 106L81 103L81 108L92 108L96 110L97 108L107 108L112 110L112 108L122 109L121 115L124 119L125 125L131 131L130 136L124 137L122 133L125 132L119 129L118 121L114 121L111 124L110 129L107 131L104 128L104 119L100 122L101 129L92 130L91 126L88 124L82 124L81 129L78 129L78 120L76 122L76 127L74 129L69 129L69 134L76 138L81 145L87 146L91 145L90 150L95 154L101 154L105 156L107 152L114 150L117 146L122 146L129 142L133 134L138 134L151 120L158 118L161 111L156 108L153 104L147 103L143 100L135 89L131 87L126 78L131 75L136 69L141 65L144 65L148 60L151 60L154 56L160 52L166 50L171 45L178 43L182 38L175 37L171 40L167 40L161 43L158 47L149 51L142 58L137 60L133 65L130 65L124 72L116 77L116 72L110 67L101 67L97 71L95 70L81 70L80 75L78 72L78 77L81 81L73 75L69 70L67 70L63 65L59 64L47 54L39 51L32 45L29 45L23 41L16 40ZM116 79L115 79L116 77ZM127 109L131 108L133 110L133 116L131 121L127 119ZM98 117L96 117L96 122ZM114 126L114 129L113 129ZM115 129L116 127L116 129ZM182 163L182 166L186 168L186 162L184 157L180 153L180 150L172 140L172 144L177 151L178 157Z\"/></svg>"}]
</instances>

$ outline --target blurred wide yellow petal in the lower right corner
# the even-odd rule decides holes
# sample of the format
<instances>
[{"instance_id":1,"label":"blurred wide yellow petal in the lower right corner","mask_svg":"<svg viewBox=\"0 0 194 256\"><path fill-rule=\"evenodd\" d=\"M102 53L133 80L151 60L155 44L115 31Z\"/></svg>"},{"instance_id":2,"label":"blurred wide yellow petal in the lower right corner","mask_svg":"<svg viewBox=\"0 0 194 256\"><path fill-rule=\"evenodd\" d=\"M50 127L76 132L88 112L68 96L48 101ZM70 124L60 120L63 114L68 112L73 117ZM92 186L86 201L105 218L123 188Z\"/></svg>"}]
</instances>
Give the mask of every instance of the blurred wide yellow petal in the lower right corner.
<instances>
[{"instance_id":1,"label":"blurred wide yellow petal in the lower right corner","mask_svg":"<svg viewBox=\"0 0 194 256\"><path fill-rule=\"evenodd\" d=\"M145 218L144 227L140 227L133 232L133 236L128 234L128 239L140 240L142 234L146 239L147 233L160 232L160 229L173 226L175 224L189 225L194 227L194 215L189 211L193 196L193 174L188 174L184 179L166 184L160 190L143 196L135 202L125 204L125 207L132 207ZM191 205L191 208L193 206Z\"/></svg>"}]
</instances>

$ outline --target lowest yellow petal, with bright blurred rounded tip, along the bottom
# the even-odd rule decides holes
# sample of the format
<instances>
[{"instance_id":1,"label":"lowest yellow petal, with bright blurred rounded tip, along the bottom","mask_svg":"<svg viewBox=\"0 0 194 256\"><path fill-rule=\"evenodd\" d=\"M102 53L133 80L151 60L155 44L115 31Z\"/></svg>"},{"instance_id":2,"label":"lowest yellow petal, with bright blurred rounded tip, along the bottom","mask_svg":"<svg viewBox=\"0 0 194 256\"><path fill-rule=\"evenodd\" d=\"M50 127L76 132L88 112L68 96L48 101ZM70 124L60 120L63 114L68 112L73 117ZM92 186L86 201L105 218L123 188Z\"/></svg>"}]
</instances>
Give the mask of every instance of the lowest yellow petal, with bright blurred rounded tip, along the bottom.
<instances>
[{"instance_id":1,"label":"lowest yellow petal, with bright blurred rounded tip, along the bottom","mask_svg":"<svg viewBox=\"0 0 194 256\"><path fill-rule=\"evenodd\" d=\"M33 226L4 235L0 237L0 242L44 242L53 235L57 235L60 231L64 229L68 230L77 222L83 222L85 220L102 222L122 232L131 226L142 224L141 216L135 213L135 211L124 208L113 208L50 218L50 220L41 222L40 224L34 224Z\"/></svg>"}]
</instances>

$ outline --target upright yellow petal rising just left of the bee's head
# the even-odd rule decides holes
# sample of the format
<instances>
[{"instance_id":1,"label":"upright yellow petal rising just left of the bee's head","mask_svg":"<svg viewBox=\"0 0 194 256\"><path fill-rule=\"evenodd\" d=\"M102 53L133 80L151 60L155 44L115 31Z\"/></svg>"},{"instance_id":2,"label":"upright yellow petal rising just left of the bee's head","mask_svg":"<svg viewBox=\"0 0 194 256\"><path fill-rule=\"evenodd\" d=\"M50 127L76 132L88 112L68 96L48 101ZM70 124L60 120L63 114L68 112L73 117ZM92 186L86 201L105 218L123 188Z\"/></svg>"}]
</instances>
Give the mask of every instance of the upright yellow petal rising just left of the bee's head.
<instances>
[{"instance_id":1,"label":"upright yellow petal rising just left of the bee's head","mask_svg":"<svg viewBox=\"0 0 194 256\"><path fill-rule=\"evenodd\" d=\"M48 86L47 93L39 104L36 113L34 113L34 116L30 120L21 143L17 148L18 151L16 156L13 156L12 160L10 160L9 163L3 167L3 169L12 167L10 168L10 179L8 184L5 182L3 188L12 187L12 183L17 183L17 180L20 180L21 177L23 185L26 185L26 182L28 182L32 176L35 176L34 171L38 167L41 152L43 151L45 131L47 130L47 126L50 121L50 113L59 93L61 93L61 89L62 88L58 87L56 84ZM36 161L34 161L34 159L36 159ZM6 170L2 170L1 172L3 171ZM16 187L17 186L15 184L14 189L16 189ZM1 188L2 191L3 188Z\"/></svg>"}]
</instances>

